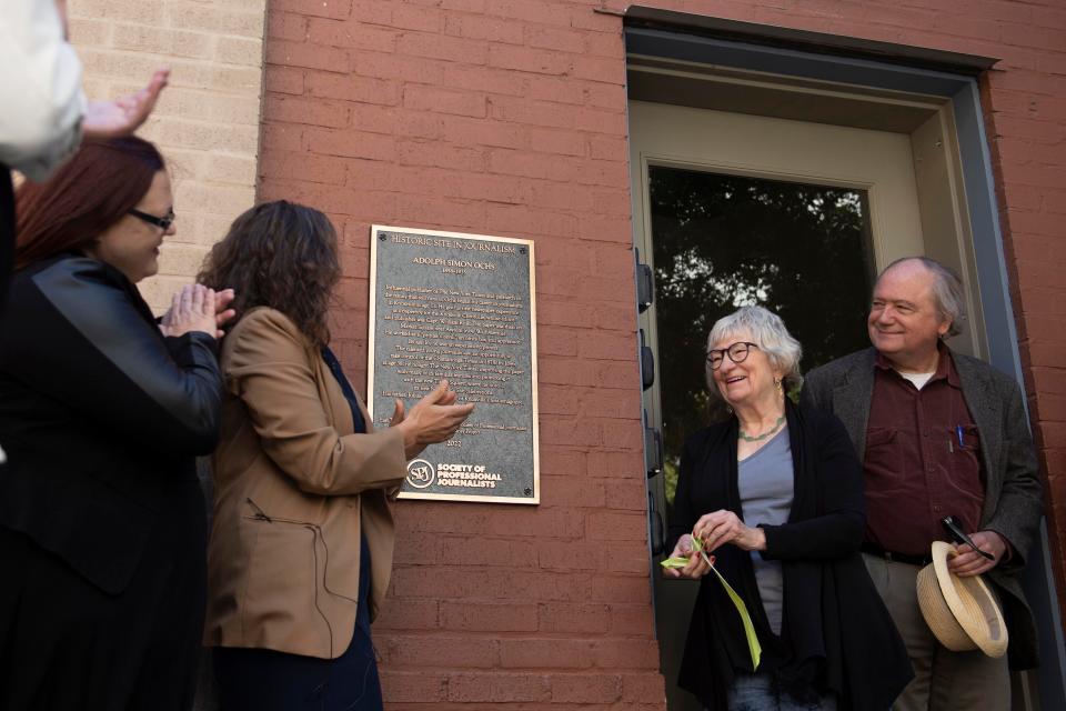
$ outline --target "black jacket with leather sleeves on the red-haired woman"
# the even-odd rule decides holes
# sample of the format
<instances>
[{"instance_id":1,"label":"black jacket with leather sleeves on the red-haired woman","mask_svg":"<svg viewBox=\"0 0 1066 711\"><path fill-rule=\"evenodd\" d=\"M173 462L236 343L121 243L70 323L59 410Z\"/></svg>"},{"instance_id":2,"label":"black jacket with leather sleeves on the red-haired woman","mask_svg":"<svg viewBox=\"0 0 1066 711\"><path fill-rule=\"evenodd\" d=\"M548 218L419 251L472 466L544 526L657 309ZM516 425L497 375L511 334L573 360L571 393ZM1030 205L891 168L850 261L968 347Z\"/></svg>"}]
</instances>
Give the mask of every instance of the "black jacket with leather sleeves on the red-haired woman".
<instances>
[{"instance_id":1,"label":"black jacket with leather sleeves on the red-haired woman","mask_svg":"<svg viewBox=\"0 0 1066 711\"><path fill-rule=\"evenodd\" d=\"M215 444L214 339L164 338L121 272L74 256L17 272L0 328L0 525L120 592Z\"/></svg>"}]
</instances>

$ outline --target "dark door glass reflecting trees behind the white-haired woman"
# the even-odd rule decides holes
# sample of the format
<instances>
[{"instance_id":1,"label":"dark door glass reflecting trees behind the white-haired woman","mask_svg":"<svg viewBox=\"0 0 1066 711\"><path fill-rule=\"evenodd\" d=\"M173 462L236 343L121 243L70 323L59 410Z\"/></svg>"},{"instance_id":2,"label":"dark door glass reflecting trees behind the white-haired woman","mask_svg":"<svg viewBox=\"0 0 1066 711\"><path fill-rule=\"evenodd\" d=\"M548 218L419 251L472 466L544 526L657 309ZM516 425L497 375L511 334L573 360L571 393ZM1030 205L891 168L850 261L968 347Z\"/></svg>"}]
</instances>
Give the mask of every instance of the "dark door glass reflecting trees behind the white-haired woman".
<instances>
[{"instance_id":1,"label":"dark door glass reflecting trees behind the white-haired woman","mask_svg":"<svg viewBox=\"0 0 1066 711\"><path fill-rule=\"evenodd\" d=\"M865 348L874 273L865 191L650 169L666 498L710 419L704 350L737 307L780 314L803 369Z\"/></svg>"}]
</instances>

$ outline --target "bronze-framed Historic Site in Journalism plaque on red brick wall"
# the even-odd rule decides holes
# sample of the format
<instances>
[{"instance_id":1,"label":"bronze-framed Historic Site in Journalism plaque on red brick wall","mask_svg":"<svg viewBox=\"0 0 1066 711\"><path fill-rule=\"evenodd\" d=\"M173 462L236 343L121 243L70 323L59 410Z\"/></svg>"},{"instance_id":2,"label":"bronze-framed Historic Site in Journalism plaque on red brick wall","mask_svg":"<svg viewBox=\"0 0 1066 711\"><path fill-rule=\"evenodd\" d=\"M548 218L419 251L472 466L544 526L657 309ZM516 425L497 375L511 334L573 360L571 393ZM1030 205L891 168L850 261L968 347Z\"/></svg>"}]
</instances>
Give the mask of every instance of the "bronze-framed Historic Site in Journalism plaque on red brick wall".
<instances>
[{"instance_id":1,"label":"bronze-framed Historic Site in Journalism plaque on red brick wall","mask_svg":"<svg viewBox=\"0 0 1066 711\"><path fill-rule=\"evenodd\" d=\"M408 463L401 499L539 503L533 242L373 226L368 407L388 427L441 379L474 411Z\"/></svg>"}]
</instances>

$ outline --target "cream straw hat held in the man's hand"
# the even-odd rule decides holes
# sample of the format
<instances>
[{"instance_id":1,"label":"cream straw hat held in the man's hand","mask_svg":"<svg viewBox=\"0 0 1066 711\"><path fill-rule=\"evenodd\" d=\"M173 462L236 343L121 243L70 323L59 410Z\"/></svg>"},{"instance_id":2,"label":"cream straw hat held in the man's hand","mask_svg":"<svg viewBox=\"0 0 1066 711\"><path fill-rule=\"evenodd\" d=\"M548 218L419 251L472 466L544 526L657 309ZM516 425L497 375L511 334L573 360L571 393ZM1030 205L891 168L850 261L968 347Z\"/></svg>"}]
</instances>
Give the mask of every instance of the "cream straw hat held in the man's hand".
<instances>
[{"instance_id":1,"label":"cream straw hat held in the man's hand","mask_svg":"<svg viewBox=\"0 0 1066 711\"><path fill-rule=\"evenodd\" d=\"M980 575L959 578L947 570L949 543L934 541L933 562L918 572L922 617L941 644L953 652L979 649L988 657L1007 651L1007 625L996 597Z\"/></svg>"}]
</instances>

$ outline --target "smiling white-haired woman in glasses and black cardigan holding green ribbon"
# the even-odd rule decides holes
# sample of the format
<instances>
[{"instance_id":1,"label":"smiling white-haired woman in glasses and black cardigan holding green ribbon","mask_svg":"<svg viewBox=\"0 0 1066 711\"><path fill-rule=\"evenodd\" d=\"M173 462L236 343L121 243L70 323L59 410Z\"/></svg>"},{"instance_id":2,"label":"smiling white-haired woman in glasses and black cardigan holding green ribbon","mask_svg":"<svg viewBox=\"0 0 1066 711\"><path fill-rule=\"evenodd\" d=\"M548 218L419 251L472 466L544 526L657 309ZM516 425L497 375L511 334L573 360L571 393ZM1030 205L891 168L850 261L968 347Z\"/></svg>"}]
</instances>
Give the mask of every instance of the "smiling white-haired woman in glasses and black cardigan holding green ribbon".
<instances>
[{"instance_id":1,"label":"smiling white-haired woman in glasses and black cardigan holding green ribbon","mask_svg":"<svg viewBox=\"0 0 1066 711\"><path fill-rule=\"evenodd\" d=\"M678 683L708 709L887 709L913 673L859 557L862 469L844 425L798 408L800 343L744 307L707 337L707 385L723 422L685 443L670 543L701 580ZM740 615L693 537L751 613Z\"/></svg>"}]
</instances>

